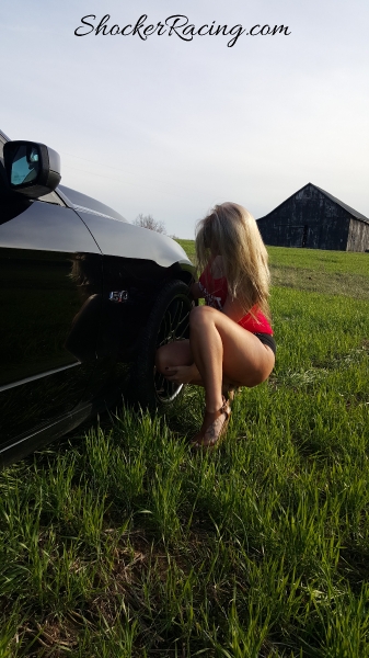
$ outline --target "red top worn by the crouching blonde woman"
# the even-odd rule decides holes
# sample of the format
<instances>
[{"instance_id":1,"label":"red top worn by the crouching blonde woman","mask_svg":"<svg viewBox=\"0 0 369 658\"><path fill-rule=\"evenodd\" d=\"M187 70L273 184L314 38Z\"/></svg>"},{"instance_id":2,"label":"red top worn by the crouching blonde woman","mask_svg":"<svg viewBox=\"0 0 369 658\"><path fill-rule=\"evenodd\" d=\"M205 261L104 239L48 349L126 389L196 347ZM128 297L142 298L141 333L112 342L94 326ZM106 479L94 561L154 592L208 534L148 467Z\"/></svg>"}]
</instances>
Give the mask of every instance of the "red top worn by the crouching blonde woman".
<instances>
[{"instance_id":1,"label":"red top worn by the crouching blonde woman","mask_svg":"<svg viewBox=\"0 0 369 658\"><path fill-rule=\"evenodd\" d=\"M228 297L227 279L224 276L221 279L214 279L210 264L208 264L200 275L198 283L204 293L207 306L212 306L212 308L222 310ZM255 319L249 311L238 321L238 325L241 325L241 327L247 329L247 331L251 331L252 333L269 333L273 336L273 329L265 315L263 315L261 310L257 310L256 306L252 308L252 311Z\"/></svg>"}]
</instances>

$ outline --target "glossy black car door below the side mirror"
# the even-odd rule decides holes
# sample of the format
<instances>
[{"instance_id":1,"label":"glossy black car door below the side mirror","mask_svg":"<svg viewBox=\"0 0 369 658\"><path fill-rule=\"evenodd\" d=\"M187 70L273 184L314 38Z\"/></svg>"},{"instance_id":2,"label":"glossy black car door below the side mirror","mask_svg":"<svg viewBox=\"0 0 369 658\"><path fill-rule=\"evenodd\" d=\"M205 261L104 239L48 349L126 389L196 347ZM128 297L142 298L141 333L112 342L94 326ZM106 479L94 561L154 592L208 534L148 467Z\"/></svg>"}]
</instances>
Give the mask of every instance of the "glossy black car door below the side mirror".
<instances>
[{"instance_id":1,"label":"glossy black car door below the side mirror","mask_svg":"<svg viewBox=\"0 0 369 658\"><path fill-rule=\"evenodd\" d=\"M0 449L83 400L94 371L101 259L57 193L9 196L0 171Z\"/></svg>"}]
</instances>

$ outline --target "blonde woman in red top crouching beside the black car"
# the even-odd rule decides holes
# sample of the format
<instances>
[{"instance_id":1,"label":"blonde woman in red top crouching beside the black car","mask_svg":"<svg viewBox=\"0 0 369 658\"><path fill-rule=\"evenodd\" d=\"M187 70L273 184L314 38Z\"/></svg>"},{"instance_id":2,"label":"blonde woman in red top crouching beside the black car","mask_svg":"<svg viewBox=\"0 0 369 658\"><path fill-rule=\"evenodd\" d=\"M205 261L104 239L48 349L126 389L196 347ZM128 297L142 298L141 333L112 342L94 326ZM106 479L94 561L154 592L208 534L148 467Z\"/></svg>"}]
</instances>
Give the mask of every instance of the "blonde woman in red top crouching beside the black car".
<instances>
[{"instance_id":1,"label":"blonde woman in red top crouching beside the black car","mask_svg":"<svg viewBox=\"0 0 369 658\"><path fill-rule=\"evenodd\" d=\"M192 444L215 446L224 434L234 388L270 375L276 353L268 307L268 256L254 217L235 203L216 205L197 225L203 272L192 285L205 306L189 315L189 340L162 345L157 368L170 381L205 388L205 415Z\"/></svg>"}]
</instances>

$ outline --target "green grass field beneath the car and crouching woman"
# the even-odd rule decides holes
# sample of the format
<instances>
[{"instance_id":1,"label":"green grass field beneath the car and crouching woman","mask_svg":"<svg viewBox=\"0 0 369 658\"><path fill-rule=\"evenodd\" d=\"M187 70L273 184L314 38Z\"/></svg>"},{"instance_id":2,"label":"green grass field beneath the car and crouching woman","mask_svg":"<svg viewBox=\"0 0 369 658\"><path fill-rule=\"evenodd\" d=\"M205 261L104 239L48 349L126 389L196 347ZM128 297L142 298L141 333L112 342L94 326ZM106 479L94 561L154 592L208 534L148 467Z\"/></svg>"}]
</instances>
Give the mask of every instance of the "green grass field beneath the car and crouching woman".
<instances>
[{"instance_id":1,"label":"green grass field beneath the car and crouching woman","mask_svg":"<svg viewBox=\"0 0 369 658\"><path fill-rule=\"evenodd\" d=\"M0 658L369 657L369 254L269 253L276 368L218 451L187 387L0 474Z\"/></svg>"}]
</instances>

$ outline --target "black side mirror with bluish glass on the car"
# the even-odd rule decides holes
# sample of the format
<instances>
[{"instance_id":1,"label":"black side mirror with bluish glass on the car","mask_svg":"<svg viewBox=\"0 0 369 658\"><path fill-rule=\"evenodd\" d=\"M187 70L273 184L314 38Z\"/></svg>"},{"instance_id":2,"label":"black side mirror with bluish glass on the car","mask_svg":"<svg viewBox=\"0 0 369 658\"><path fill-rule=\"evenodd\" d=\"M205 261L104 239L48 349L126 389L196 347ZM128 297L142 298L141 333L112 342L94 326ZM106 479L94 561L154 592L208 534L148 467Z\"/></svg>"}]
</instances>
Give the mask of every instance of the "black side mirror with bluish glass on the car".
<instances>
[{"instance_id":1,"label":"black side mirror with bluish glass on the car","mask_svg":"<svg viewBox=\"0 0 369 658\"><path fill-rule=\"evenodd\" d=\"M36 141L7 141L3 146L9 189L37 198L53 192L61 180L60 157Z\"/></svg>"}]
</instances>

